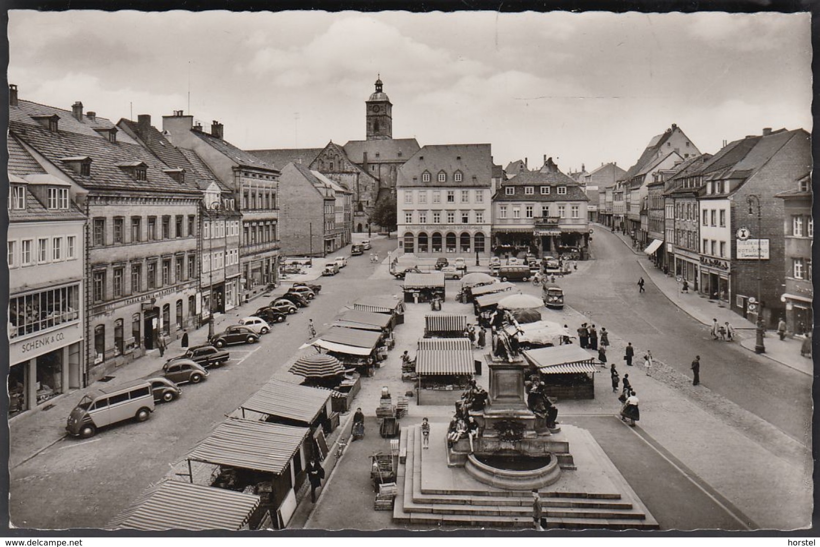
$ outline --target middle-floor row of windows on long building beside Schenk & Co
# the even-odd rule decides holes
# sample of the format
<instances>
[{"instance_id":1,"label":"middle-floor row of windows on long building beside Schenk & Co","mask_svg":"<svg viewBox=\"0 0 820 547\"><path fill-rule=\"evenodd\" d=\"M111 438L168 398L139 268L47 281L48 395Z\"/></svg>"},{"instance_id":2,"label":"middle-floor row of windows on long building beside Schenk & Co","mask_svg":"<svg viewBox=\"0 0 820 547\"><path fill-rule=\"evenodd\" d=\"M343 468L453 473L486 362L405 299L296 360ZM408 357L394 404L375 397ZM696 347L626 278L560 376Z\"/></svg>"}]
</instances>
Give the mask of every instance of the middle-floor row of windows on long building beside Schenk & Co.
<instances>
[{"instance_id":1,"label":"middle-floor row of windows on long building beside Schenk & Co","mask_svg":"<svg viewBox=\"0 0 820 547\"><path fill-rule=\"evenodd\" d=\"M187 264L185 264L186 257ZM113 267L110 277L108 269L96 269L91 275L93 301L96 304L122 296L153 291L160 287L193 279L196 277L196 272L197 257L194 254L178 255L173 259L148 259L146 264L131 263L130 279L125 278L124 265Z\"/></svg>"}]
</instances>

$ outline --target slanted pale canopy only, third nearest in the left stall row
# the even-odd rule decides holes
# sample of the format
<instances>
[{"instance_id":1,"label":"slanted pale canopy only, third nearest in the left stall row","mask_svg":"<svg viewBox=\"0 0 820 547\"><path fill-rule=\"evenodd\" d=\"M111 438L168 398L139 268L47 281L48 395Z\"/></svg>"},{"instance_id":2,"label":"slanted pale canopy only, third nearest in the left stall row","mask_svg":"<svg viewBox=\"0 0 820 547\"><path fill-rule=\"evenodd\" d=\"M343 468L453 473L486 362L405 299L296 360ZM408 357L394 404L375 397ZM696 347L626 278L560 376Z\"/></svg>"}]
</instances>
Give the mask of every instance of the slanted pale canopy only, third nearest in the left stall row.
<instances>
[{"instance_id":1,"label":"slanted pale canopy only, third nearest in the left stall row","mask_svg":"<svg viewBox=\"0 0 820 547\"><path fill-rule=\"evenodd\" d=\"M271 380L240 405L260 414L312 423L330 399L330 391Z\"/></svg>"}]
</instances>

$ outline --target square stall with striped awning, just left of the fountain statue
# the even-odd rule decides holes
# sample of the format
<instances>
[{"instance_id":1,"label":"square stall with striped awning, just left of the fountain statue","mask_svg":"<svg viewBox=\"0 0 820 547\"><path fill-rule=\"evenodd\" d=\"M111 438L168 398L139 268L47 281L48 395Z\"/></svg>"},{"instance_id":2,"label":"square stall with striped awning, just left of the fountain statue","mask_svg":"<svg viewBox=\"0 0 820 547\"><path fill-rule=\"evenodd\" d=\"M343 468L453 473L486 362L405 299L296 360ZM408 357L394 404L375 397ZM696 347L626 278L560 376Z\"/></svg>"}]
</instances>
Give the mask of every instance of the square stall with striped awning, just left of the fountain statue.
<instances>
[{"instance_id":1,"label":"square stall with striped awning, just left of the fountain statue","mask_svg":"<svg viewBox=\"0 0 820 547\"><path fill-rule=\"evenodd\" d=\"M418 405L453 405L469 386L476 364L467 338L418 341Z\"/></svg>"}]
</instances>

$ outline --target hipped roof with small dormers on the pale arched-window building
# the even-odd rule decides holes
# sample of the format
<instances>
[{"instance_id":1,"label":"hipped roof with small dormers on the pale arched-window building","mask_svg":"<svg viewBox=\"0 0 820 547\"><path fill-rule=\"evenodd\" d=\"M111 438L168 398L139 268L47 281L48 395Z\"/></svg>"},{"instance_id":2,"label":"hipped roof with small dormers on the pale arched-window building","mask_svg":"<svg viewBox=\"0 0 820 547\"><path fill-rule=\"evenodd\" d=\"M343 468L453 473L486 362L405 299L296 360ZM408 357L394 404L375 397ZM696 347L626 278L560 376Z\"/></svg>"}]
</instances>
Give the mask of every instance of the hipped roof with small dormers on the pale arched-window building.
<instances>
[{"instance_id":1,"label":"hipped roof with small dormers on the pale arched-window building","mask_svg":"<svg viewBox=\"0 0 820 547\"><path fill-rule=\"evenodd\" d=\"M439 171L447 174L447 182L438 182ZM430 173L430 182L421 182L421 174ZM453 174L462 172L462 182ZM396 186L426 187L489 187L493 176L493 160L489 144L428 144L421 147L407 163L399 167Z\"/></svg>"}]
</instances>

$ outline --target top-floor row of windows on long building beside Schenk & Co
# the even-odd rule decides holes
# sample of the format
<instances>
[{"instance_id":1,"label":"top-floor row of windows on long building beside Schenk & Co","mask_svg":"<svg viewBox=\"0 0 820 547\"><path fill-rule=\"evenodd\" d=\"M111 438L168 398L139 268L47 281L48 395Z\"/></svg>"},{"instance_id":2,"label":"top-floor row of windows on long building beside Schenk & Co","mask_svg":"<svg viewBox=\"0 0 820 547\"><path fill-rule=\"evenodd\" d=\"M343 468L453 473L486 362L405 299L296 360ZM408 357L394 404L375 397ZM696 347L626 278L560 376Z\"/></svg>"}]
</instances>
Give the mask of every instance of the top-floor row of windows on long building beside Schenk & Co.
<instances>
[{"instance_id":1,"label":"top-floor row of windows on long building beside Schenk & Co","mask_svg":"<svg viewBox=\"0 0 820 547\"><path fill-rule=\"evenodd\" d=\"M112 229L110 233L107 231L108 219L98 217L92 221L91 242L93 246L106 246L119 245L121 243L152 242L160 239L171 239L171 237L185 237L185 215L176 215L173 217L173 224L171 224L171 218L171 215L162 217L149 216L146 222L147 228L143 231L143 217L132 216L129 233L130 238L126 241L124 217L119 216L111 219ZM159 221L159 231L157 231L157 221ZM172 225L173 235L171 235ZM187 235L189 237L196 235L196 215L188 215L187 228Z\"/></svg>"}]
</instances>

